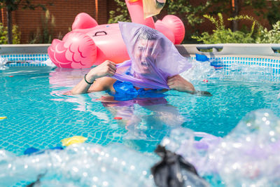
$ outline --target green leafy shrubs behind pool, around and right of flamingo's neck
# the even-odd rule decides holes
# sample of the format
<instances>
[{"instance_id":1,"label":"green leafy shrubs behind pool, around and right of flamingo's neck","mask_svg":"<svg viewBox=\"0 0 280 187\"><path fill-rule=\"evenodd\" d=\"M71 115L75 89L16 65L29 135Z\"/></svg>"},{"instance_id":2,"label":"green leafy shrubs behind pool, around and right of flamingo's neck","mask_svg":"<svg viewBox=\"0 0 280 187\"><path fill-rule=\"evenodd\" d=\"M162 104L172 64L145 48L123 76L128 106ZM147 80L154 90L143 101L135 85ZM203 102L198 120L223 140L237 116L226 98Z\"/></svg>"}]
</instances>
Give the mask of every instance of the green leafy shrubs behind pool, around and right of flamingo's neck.
<instances>
[{"instance_id":1,"label":"green leafy shrubs behind pool, around and right of flamingo's neck","mask_svg":"<svg viewBox=\"0 0 280 187\"><path fill-rule=\"evenodd\" d=\"M118 21L130 22L130 15L127 11L125 1L115 1L118 8L116 8L116 11L110 11L109 23ZM246 10L250 8L255 15L262 16L263 19L269 20L271 25L277 20L280 20L280 1L239 0L236 6L239 6L239 11L241 9ZM265 8L265 11L263 11L264 7L269 8ZM209 11L209 9L211 9L211 11ZM214 29L213 34L203 32L201 36L197 36L198 31L196 26L204 22L202 14L205 12L210 15L203 15L203 17L210 20L215 25L216 29ZM181 18L185 26L193 28L186 32L186 37L183 43L193 42L191 39L203 43L279 43L279 22L276 22L276 24L273 25L271 31L267 31L267 29L264 29L262 25L260 25L260 22L254 18L248 15L237 15L235 18L230 18L228 20L250 20L252 26L249 30L242 29L241 31L232 32L231 29L225 28L221 12L223 12L224 15L232 15L231 1L211 0L204 4L200 4L199 6L193 6L190 1L186 0L167 0L160 15L157 15L154 18L162 18L167 14L177 15ZM218 19L211 16L217 14ZM196 36L191 36L191 34L195 34Z\"/></svg>"}]
</instances>

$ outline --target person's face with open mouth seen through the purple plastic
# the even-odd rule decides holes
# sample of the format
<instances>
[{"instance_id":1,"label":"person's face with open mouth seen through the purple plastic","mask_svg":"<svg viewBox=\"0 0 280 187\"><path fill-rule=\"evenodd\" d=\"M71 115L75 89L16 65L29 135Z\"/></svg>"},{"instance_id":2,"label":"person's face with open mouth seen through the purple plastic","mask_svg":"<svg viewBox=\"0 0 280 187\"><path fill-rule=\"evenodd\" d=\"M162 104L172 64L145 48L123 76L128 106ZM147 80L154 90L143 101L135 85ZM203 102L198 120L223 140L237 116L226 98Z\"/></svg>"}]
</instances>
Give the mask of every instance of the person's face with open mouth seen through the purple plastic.
<instances>
[{"instance_id":1,"label":"person's face with open mouth seen through the purple plastic","mask_svg":"<svg viewBox=\"0 0 280 187\"><path fill-rule=\"evenodd\" d=\"M155 64L159 50L155 40L140 39L134 46L134 60L140 74L151 74L151 66ZM155 50L156 49L156 50Z\"/></svg>"}]
</instances>

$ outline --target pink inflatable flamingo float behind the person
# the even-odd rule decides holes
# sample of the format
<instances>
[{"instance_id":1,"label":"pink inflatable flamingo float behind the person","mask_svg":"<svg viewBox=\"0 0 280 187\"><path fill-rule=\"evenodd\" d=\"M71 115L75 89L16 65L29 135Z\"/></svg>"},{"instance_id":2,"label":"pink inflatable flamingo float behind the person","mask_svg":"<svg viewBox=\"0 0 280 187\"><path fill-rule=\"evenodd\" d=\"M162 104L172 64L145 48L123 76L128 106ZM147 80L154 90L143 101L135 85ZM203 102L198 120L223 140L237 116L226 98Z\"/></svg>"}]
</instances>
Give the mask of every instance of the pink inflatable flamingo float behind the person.
<instances>
[{"instance_id":1,"label":"pink inflatable flamingo float behind the person","mask_svg":"<svg viewBox=\"0 0 280 187\"><path fill-rule=\"evenodd\" d=\"M183 41L185 27L175 15L154 22L153 18L144 19L142 0L126 0L126 4L132 22L157 29L174 44ZM98 25L87 13L76 16L72 31L62 41L52 41L48 55L57 67L73 69L89 68L105 60L120 63L129 59L118 24Z\"/></svg>"}]
</instances>

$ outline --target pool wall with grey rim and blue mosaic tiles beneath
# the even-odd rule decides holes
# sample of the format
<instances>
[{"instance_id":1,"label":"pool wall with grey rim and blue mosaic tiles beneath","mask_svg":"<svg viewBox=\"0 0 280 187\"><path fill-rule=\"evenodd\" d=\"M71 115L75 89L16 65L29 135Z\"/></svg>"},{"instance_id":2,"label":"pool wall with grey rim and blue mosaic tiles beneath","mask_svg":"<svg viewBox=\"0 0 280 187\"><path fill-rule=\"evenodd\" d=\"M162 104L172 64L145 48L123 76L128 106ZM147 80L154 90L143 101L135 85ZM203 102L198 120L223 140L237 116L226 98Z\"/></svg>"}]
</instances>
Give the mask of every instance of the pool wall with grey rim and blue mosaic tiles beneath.
<instances>
[{"instance_id":1,"label":"pool wall with grey rim and blue mosaic tiles beneath","mask_svg":"<svg viewBox=\"0 0 280 187\"><path fill-rule=\"evenodd\" d=\"M48 47L50 44L18 44L0 45L0 59L9 63L8 67L46 66L42 63L48 60ZM256 43L226 43L226 44L183 44L176 45L179 53L183 56L192 57L195 54L207 55L210 59L221 60L225 69L231 64L258 65L268 67L274 74L279 74L280 44L256 44ZM212 49L213 52L200 50ZM218 51L220 50L220 51ZM33 63L19 63L34 61Z\"/></svg>"}]
</instances>

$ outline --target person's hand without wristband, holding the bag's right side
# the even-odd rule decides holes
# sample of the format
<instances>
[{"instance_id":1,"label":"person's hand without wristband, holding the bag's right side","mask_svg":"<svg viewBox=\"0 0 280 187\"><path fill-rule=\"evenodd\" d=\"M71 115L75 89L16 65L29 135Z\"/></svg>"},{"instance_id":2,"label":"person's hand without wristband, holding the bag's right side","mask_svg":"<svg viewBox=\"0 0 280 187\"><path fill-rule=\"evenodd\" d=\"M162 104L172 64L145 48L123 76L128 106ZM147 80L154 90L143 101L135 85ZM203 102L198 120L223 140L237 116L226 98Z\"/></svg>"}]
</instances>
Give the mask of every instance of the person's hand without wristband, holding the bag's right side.
<instances>
[{"instance_id":1,"label":"person's hand without wristband, holding the bag's right side","mask_svg":"<svg viewBox=\"0 0 280 187\"><path fill-rule=\"evenodd\" d=\"M186 79L179 75L167 78L167 85L170 89L178 90L180 92L195 92L195 87L193 86L193 84L186 81Z\"/></svg>"}]
</instances>

